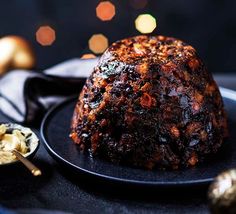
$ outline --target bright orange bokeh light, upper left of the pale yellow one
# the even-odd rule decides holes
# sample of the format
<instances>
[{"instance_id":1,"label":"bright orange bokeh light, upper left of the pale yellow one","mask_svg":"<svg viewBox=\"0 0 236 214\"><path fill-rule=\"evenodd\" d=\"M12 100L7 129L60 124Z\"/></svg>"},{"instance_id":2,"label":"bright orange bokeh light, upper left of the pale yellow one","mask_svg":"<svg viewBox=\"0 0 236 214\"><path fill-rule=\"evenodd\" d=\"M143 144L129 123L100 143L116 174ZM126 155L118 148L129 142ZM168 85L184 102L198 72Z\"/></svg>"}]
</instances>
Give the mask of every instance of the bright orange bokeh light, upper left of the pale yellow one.
<instances>
[{"instance_id":1,"label":"bright orange bokeh light, upper left of the pale yellow one","mask_svg":"<svg viewBox=\"0 0 236 214\"><path fill-rule=\"evenodd\" d=\"M96 14L102 21L109 21L115 16L116 8L111 2L103 1L96 7Z\"/></svg>"}]
</instances>

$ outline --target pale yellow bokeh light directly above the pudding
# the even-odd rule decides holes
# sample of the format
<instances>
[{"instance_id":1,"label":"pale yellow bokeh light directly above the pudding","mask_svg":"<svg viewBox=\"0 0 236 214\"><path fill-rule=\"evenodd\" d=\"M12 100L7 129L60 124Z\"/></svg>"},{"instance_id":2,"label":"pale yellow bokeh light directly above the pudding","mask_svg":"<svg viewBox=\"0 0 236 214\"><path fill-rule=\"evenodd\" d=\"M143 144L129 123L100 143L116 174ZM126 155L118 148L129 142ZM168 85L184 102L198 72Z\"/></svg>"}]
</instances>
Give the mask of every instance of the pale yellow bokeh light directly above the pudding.
<instances>
[{"instance_id":1,"label":"pale yellow bokeh light directly above the pudding","mask_svg":"<svg viewBox=\"0 0 236 214\"><path fill-rule=\"evenodd\" d=\"M141 14L135 20L135 27L140 33L151 33L156 27L156 19L150 14Z\"/></svg>"}]
</instances>

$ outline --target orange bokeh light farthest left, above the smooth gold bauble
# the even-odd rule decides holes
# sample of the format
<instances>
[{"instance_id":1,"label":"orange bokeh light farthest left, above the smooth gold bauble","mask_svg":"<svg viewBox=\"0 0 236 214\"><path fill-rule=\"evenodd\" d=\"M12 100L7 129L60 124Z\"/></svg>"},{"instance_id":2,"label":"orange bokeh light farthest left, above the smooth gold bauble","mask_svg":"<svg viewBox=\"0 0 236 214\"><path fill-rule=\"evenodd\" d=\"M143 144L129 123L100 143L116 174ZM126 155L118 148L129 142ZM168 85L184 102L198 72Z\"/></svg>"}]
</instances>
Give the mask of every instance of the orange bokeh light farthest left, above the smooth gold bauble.
<instances>
[{"instance_id":1,"label":"orange bokeh light farthest left, above the smooth gold bauble","mask_svg":"<svg viewBox=\"0 0 236 214\"><path fill-rule=\"evenodd\" d=\"M41 26L36 32L36 40L42 46L49 46L56 40L56 33L50 26Z\"/></svg>"}]
</instances>

